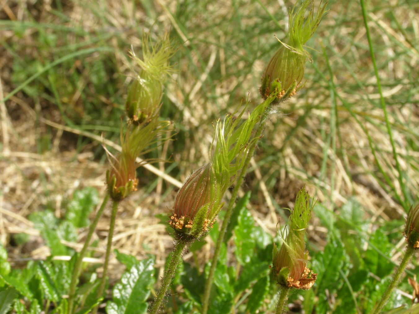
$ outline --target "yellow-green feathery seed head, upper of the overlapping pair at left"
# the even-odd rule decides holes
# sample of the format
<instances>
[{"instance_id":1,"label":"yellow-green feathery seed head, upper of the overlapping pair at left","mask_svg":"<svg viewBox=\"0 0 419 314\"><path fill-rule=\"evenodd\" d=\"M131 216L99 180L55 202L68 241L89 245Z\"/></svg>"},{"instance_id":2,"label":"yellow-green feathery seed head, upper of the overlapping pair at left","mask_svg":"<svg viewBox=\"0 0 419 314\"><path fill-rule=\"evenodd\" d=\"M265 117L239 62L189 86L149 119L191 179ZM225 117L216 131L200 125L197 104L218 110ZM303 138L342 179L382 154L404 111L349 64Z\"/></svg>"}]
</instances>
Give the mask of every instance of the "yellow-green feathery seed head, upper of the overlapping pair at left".
<instances>
[{"instance_id":1,"label":"yellow-green feathery seed head, upper of the overlapping pair at left","mask_svg":"<svg viewBox=\"0 0 419 314\"><path fill-rule=\"evenodd\" d=\"M160 101L163 96L163 84L168 74L173 72L168 60L176 51L172 46L168 34L165 34L155 46L150 47L149 34L142 38L143 60L131 56L140 71L132 82L125 102L127 115L132 122L142 121L155 115L160 108Z\"/></svg>"}]
</instances>

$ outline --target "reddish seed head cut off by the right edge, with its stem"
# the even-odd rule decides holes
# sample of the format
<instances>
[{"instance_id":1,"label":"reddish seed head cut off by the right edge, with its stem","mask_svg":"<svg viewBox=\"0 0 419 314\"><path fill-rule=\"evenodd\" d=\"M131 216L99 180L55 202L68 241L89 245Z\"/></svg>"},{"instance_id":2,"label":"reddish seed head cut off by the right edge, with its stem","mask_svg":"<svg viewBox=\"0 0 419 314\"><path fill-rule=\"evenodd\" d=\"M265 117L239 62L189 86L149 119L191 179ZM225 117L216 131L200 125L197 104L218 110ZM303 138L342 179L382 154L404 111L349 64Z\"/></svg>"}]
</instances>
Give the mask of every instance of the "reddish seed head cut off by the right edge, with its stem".
<instances>
[{"instance_id":1,"label":"reddish seed head cut off by the right edge, with its stem","mask_svg":"<svg viewBox=\"0 0 419 314\"><path fill-rule=\"evenodd\" d=\"M387 286L381 297L380 302L375 306L374 314L381 313L388 299L390 299L393 289L396 288L401 280L401 275L404 273L412 256L419 251L419 204L409 209L407 214L406 225L404 227L404 237L406 239L406 252L404 252L403 259L400 265L394 271L393 279Z\"/></svg>"}]
</instances>

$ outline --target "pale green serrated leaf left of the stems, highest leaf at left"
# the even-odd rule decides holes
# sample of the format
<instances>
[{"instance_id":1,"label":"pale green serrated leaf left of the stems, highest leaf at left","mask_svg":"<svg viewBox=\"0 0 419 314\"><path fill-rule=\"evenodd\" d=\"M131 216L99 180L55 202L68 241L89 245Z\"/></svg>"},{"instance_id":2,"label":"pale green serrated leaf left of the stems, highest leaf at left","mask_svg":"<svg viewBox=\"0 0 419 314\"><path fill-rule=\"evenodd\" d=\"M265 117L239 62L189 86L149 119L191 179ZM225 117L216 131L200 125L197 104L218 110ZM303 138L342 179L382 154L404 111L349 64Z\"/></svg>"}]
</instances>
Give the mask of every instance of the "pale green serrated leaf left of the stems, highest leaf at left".
<instances>
[{"instance_id":1,"label":"pale green serrated leaf left of the stems, highest leaf at left","mask_svg":"<svg viewBox=\"0 0 419 314\"><path fill-rule=\"evenodd\" d=\"M86 187L75 191L72 201L68 204L65 219L77 228L88 226L89 214L98 202L98 191L95 188Z\"/></svg>"}]
</instances>

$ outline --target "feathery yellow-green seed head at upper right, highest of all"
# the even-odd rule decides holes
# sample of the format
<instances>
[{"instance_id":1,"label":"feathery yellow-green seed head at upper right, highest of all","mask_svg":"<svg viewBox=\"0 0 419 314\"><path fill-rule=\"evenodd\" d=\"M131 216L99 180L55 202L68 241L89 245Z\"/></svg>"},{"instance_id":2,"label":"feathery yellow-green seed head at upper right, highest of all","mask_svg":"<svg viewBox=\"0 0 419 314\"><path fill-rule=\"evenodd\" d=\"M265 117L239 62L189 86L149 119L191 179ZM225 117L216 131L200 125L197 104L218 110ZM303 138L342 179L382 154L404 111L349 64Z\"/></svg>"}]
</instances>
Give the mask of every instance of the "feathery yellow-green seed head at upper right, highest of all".
<instances>
[{"instance_id":1,"label":"feathery yellow-green seed head at upper right, highest of all","mask_svg":"<svg viewBox=\"0 0 419 314\"><path fill-rule=\"evenodd\" d=\"M295 95L304 83L304 67L310 54L304 49L305 43L313 36L324 15L326 15L326 3L318 7L314 14L314 1L305 0L296 9L290 11L288 20L289 44L278 39L282 46L269 61L262 77L260 93L264 99L277 90L277 102L283 101ZM306 13L308 11L308 14Z\"/></svg>"}]
</instances>

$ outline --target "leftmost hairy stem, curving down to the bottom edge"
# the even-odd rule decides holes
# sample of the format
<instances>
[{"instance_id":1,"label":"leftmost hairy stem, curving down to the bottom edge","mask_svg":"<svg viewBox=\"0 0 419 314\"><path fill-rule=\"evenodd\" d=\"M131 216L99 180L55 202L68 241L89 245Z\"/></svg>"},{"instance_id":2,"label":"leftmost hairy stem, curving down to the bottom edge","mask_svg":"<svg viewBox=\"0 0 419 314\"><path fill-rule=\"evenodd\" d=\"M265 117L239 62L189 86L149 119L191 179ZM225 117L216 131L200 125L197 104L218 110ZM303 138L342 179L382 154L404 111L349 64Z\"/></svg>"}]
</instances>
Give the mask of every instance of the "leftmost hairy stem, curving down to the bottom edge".
<instances>
[{"instance_id":1,"label":"leftmost hairy stem, curving down to the bottom edge","mask_svg":"<svg viewBox=\"0 0 419 314\"><path fill-rule=\"evenodd\" d=\"M93 232L95 232L96 226L99 222L99 219L101 218L101 216L103 214L103 210L105 209L105 206L108 203L108 201L109 201L109 193L106 193L105 198L103 198L103 202L101 204L101 207L97 211L95 219L93 220L93 223L90 225L89 232L88 232L87 237L85 239L83 248L81 249L81 251L80 251L80 253L77 257L76 263L74 265L73 274L71 276L70 289L69 289L69 293L68 293L68 310L67 310L68 314L73 313L75 291L76 291L78 278L79 278L80 272L81 272L81 266L83 264L83 258L86 255L86 251L87 251L87 249L90 245L90 241L92 239Z\"/></svg>"}]
</instances>

